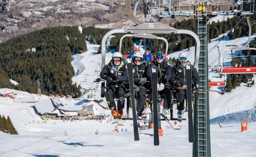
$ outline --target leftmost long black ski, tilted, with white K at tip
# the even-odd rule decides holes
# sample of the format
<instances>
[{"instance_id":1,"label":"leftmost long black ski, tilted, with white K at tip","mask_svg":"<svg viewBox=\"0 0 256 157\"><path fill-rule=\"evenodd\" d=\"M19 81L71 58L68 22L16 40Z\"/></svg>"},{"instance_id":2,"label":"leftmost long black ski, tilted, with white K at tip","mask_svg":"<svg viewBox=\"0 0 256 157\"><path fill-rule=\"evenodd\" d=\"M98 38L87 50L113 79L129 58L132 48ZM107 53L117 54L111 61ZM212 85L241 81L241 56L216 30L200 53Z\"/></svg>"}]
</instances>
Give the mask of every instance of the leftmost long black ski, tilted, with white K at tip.
<instances>
[{"instance_id":1,"label":"leftmost long black ski, tilted, with white K at tip","mask_svg":"<svg viewBox=\"0 0 256 157\"><path fill-rule=\"evenodd\" d=\"M137 124L135 96L134 96L134 84L133 84L133 60L131 57L127 58L127 71L128 71L128 79L129 79L129 86L130 86L130 97L131 97L132 110L133 110L134 140L139 141L139 131L138 131L138 124Z\"/></svg>"}]
</instances>

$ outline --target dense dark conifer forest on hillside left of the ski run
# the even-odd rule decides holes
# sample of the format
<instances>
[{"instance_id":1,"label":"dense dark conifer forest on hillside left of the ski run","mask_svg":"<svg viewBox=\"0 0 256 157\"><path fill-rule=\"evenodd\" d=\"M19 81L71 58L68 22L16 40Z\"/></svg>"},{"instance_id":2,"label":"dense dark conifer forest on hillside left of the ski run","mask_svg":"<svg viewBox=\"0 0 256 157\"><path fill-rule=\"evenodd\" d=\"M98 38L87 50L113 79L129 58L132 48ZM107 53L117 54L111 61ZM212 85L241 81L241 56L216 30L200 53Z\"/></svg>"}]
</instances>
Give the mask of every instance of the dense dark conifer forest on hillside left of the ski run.
<instances>
[{"instance_id":1,"label":"dense dark conifer forest on hillside left of the ski run","mask_svg":"<svg viewBox=\"0 0 256 157\"><path fill-rule=\"evenodd\" d=\"M35 48L36 52L30 51ZM37 78L42 94L64 94L80 97L80 85L72 84L74 70L71 52L87 50L85 35L78 27L53 27L21 35L0 44L1 88L15 88L37 93ZM10 70L18 86L9 82Z\"/></svg>"}]
</instances>

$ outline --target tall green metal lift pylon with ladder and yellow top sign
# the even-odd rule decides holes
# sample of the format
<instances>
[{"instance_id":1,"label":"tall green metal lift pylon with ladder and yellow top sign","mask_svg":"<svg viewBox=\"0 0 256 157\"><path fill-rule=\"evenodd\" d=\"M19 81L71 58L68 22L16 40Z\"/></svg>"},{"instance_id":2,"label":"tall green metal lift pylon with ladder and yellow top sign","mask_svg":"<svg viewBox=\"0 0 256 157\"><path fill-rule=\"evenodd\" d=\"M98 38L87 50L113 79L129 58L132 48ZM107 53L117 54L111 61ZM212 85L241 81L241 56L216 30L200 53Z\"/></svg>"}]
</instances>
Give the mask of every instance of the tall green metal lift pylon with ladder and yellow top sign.
<instances>
[{"instance_id":1,"label":"tall green metal lift pylon with ladder and yellow top sign","mask_svg":"<svg viewBox=\"0 0 256 157\"><path fill-rule=\"evenodd\" d=\"M200 56L198 72L200 88L208 89L208 34L207 34L207 6L198 3L197 11L197 35L200 40ZM199 91L199 99L194 105L194 137L193 157L210 157L210 117L209 117L209 93Z\"/></svg>"}]
</instances>

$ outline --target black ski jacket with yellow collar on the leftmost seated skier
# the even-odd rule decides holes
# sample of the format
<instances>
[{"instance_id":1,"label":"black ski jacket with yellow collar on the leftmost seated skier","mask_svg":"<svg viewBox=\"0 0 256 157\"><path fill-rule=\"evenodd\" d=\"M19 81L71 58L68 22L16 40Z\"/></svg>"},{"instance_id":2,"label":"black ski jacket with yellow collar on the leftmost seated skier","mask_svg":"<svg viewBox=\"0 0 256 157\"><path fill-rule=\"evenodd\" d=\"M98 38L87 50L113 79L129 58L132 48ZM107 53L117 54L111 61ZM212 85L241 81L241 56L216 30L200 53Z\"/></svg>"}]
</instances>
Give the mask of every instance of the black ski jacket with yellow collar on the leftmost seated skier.
<instances>
[{"instance_id":1,"label":"black ski jacket with yellow collar on the leftmost seated skier","mask_svg":"<svg viewBox=\"0 0 256 157\"><path fill-rule=\"evenodd\" d=\"M113 80L118 80L117 82L113 81L107 84L107 86L125 86L126 80L128 80L126 77L128 76L128 73L126 70L125 62L122 60L120 66L118 66L117 68L115 68L113 65L114 63L112 62L112 60L108 64L106 64L100 73L100 77L103 80L107 80L107 77L111 77Z\"/></svg>"}]
</instances>

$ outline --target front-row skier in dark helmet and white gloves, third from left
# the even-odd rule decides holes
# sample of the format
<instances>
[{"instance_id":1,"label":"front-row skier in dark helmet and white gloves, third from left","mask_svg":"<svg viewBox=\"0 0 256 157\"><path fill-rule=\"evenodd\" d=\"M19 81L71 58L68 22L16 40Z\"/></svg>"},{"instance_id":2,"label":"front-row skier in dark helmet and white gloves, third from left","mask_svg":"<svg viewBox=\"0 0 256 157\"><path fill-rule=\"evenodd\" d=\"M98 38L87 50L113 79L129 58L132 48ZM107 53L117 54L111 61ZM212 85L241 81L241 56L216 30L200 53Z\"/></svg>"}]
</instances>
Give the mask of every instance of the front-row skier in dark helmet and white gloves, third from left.
<instances>
[{"instance_id":1,"label":"front-row skier in dark helmet and white gloves, third from left","mask_svg":"<svg viewBox=\"0 0 256 157\"><path fill-rule=\"evenodd\" d=\"M169 80L171 79L171 66L164 59L165 54L162 51L158 51L155 54L153 62L147 66L147 78L151 81L151 66L157 66L158 68L158 91L159 94L163 97L164 100L164 108L163 115L169 120L171 118L169 113L169 108L171 108L171 102L173 98L173 93L171 92L171 85L169 84ZM150 95L151 102L152 94Z\"/></svg>"}]
</instances>

